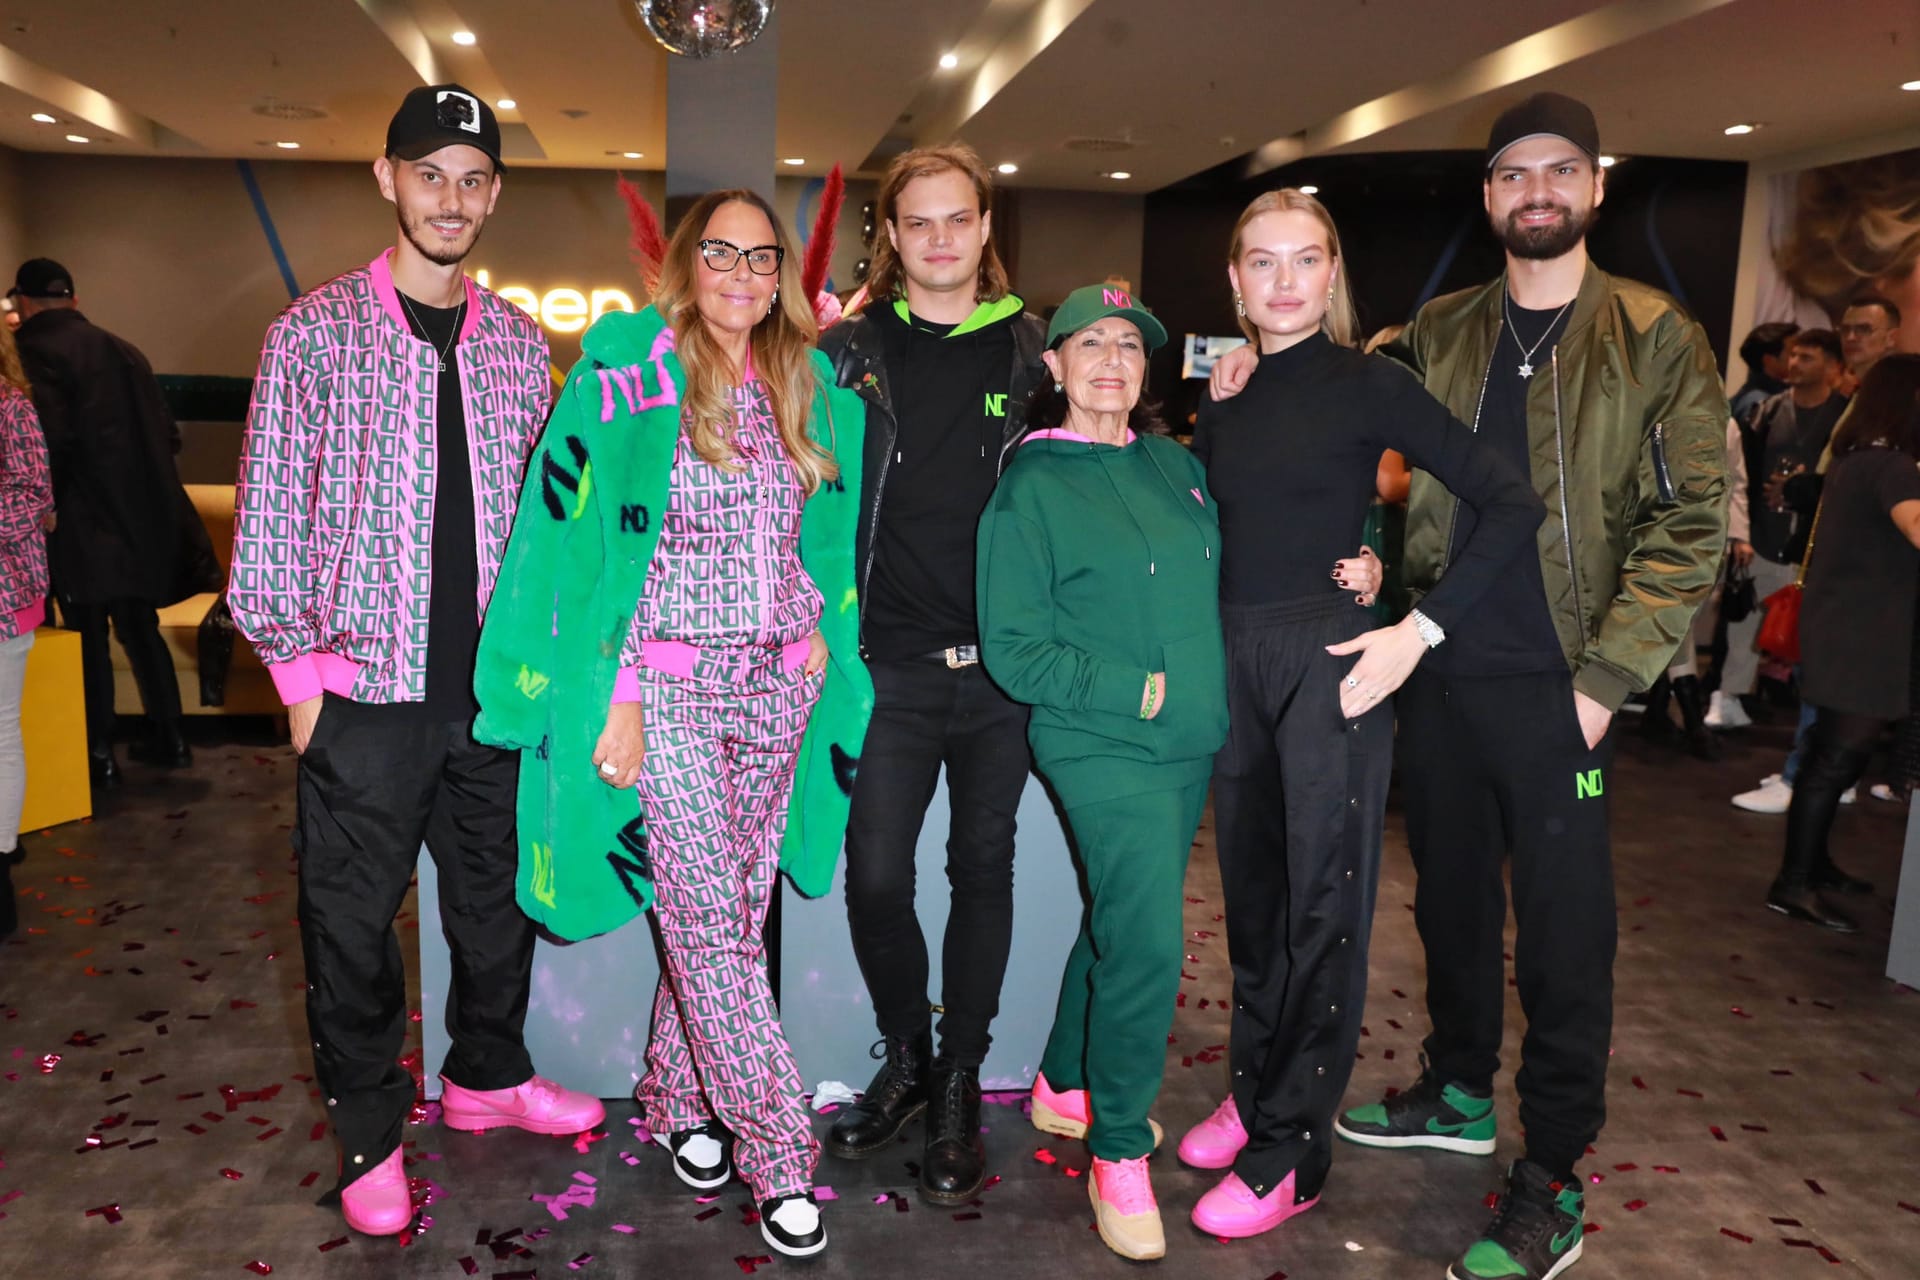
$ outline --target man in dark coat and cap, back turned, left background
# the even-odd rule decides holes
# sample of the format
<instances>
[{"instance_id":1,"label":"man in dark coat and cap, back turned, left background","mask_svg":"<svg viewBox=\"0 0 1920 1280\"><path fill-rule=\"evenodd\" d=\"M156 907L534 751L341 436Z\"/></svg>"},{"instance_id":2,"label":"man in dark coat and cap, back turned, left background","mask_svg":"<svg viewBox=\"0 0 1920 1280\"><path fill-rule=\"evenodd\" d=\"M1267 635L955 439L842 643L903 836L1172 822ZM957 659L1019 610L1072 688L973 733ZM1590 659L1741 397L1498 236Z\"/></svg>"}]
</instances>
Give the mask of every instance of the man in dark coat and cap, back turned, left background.
<instances>
[{"instance_id":1,"label":"man in dark coat and cap, back turned, left background","mask_svg":"<svg viewBox=\"0 0 1920 1280\"><path fill-rule=\"evenodd\" d=\"M48 558L61 620L81 633L94 783L121 781L109 635L127 651L148 722L127 754L186 768L194 754L180 731L180 685L156 608L190 595L180 589L180 553L182 520L192 516L173 466L180 428L146 357L81 313L73 273L48 257L31 259L10 297L23 317L15 338L54 468L58 526Z\"/></svg>"}]
</instances>

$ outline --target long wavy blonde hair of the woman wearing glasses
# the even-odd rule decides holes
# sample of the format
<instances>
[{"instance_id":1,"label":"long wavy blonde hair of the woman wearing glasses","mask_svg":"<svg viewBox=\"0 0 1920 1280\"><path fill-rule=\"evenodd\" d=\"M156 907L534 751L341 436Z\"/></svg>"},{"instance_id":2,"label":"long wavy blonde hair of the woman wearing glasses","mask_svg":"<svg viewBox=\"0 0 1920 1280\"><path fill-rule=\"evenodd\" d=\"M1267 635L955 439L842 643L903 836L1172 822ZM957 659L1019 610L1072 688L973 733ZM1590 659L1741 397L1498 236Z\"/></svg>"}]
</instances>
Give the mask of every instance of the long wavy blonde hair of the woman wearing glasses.
<instances>
[{"instance_id":1,"label":"long wavy blonde hair of the woman wearing glasses","mask_svg":"<svg viewBox=\"0 0 1920 1280\"><path fill-rule=\"evenodd\" d=\"M753 351L755 376L766 386L766 399L774 409L774 422L780 426L780 443L801 474L801 486L812 493L828 480L839 476L833 455L814 443L808 434L808 416L814 405L814 368L808 353L820 338L814 322L812 301L806 286L801 284L801 253L793 236L787 234L780 215L772 205L747 190L707 192L674 230L666 246L666 259L660 263L660 282L653 292L653 305L674 330L674 347L680 365L687 372L687 386L682 397L682 422L693 451L714 466L737 470L733 447L728 443L728 428L733 422L733 367L720 342L708 332L697 305L697 271L707 271L701 263L701 238L707 234L707 221L714 209L726 203L747 203L766 215L774 228L774 244L783 249L780 261L780 297L774 309L753 326L749 349Z\"/></svg>"}]
</instances>

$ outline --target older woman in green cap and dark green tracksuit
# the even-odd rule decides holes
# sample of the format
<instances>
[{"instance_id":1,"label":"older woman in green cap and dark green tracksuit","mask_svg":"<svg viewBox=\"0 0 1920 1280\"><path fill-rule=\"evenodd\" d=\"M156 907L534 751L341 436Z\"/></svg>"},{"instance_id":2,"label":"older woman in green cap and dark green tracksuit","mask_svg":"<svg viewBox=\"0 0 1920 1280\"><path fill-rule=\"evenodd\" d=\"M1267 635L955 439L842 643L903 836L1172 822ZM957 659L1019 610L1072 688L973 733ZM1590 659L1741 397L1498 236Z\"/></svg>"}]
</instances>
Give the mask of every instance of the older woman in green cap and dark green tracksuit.
<instances>
[{"instance_id":1,"label":"older woman in green cap and dark green tracksuit","mask_svg":"<svg viewBox=\"0 0 1920 1280\"><path fill-rule=\"evenodd\" d=\"M979 522L987 674L1033 706L1033 758L1087 873L1035 1082L1035 1125L1085 1132L1100 1238L1162 1257L1146 1176L1181 979L1181 885L1227 739L1219 520L1200 462L1144 409L1167 334L1125 290L1054 315L1052 380Z\"/></svg>"}]
</instances>

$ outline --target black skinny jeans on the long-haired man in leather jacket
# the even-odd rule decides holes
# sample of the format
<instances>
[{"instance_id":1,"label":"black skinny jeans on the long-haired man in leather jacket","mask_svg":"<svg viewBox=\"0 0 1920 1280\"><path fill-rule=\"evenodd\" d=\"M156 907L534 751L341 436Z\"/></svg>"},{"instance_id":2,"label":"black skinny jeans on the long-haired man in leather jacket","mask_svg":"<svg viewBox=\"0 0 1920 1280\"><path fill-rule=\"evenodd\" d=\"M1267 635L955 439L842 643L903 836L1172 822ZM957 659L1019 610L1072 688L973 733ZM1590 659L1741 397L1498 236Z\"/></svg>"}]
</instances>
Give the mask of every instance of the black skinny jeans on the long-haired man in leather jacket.
<instances>
[{"instance_id":1,"label":"black skinny jeans on the long-haired man in leather jacket","mask_svg":"<svg viewBox=\"0 0 1920 1280\"><path fill-rule=\"evenodd\" d=\"M933 1021L927 940L914 915L914 846L947 770L947 883L941 1054L987 1059L1014 940L1014 818L1033 768L1027 708L979 664L872 662L874 720L847 818L847 923L883 1036Z\"/></svg>"}]
</instances>

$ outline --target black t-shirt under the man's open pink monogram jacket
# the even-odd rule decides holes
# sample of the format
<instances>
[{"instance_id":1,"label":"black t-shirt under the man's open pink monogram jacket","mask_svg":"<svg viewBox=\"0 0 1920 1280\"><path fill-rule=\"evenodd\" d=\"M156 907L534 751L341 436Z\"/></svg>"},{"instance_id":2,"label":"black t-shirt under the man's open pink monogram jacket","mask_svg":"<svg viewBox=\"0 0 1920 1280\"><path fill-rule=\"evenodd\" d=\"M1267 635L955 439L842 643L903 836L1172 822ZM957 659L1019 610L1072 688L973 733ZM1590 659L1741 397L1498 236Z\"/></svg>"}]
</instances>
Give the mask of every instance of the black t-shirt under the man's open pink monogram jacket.
<instances>
[{"instance_id":1,"label":"black t-shirt under the man's open pink monogram jacket","mask_svg":"<svg viewBox=\"0 0 1920 1280\"><path fill-rule=\"evenodd\" d=\"M472 720L480 712L474 700L480 560L457 351L467 303L428 307L401 294L401 311L407 313L415 338L424 338L434 351L445 353L434 395L434 553L426 614L426 700L420 708L430 720Z\"/></svg>"}]
</instances>

